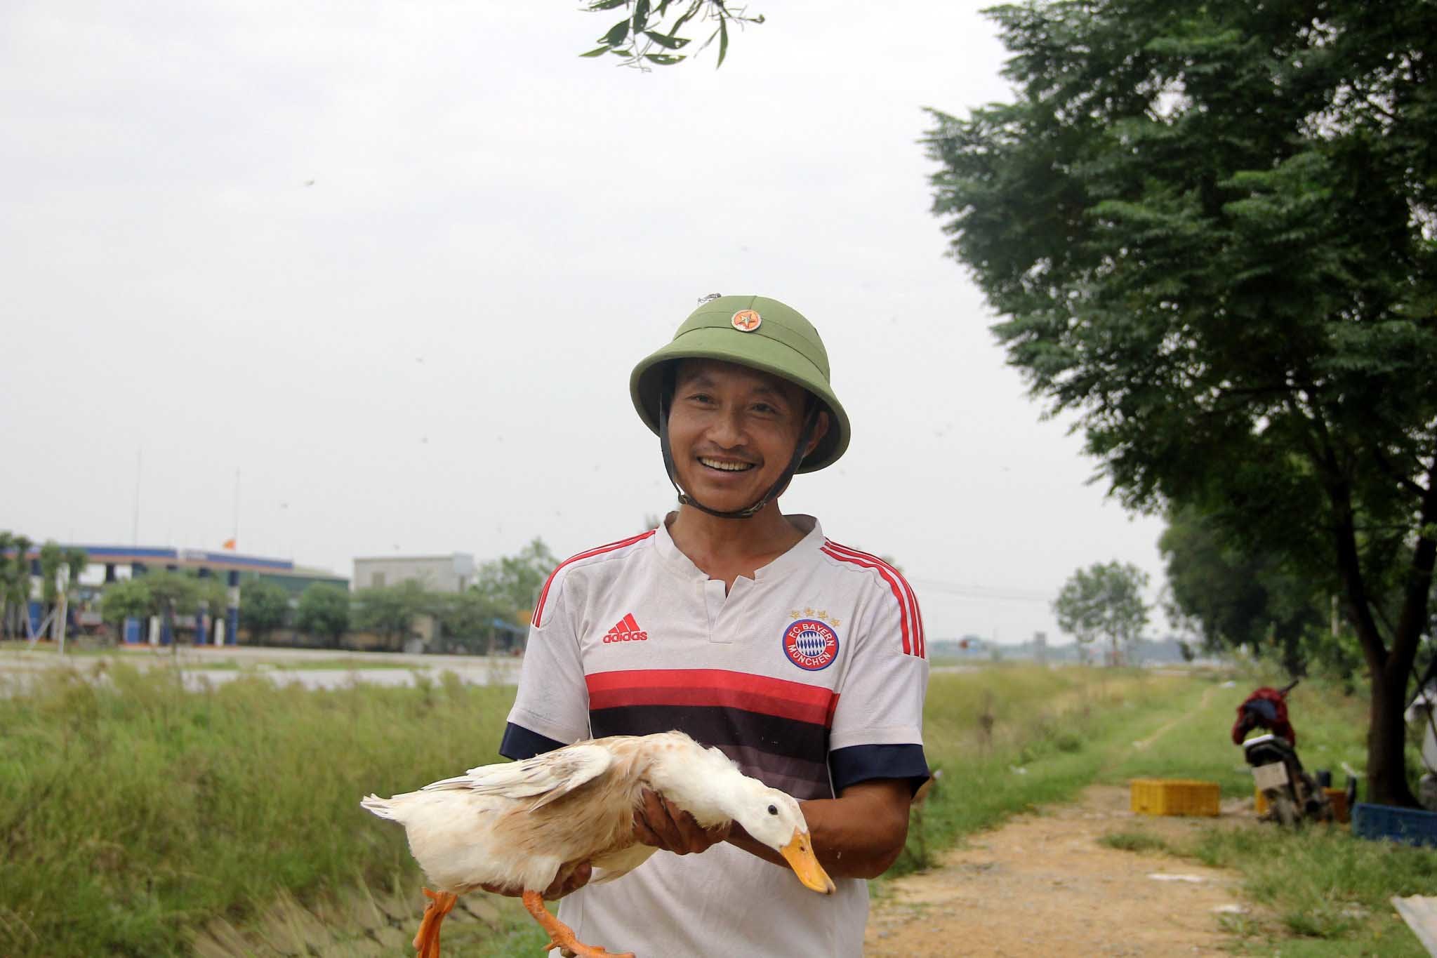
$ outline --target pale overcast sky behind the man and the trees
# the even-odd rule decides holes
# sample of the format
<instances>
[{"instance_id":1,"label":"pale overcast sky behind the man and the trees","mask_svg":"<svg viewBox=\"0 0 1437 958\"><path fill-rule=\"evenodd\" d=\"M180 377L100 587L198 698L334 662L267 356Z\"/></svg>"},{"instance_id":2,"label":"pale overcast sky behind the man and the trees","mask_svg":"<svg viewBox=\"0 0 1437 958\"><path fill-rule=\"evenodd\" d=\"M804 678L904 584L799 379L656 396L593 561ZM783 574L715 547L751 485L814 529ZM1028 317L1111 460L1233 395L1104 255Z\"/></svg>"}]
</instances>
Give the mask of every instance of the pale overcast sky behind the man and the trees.
<instances>
[{"instance_id":1,"label":"pale overcast sky behind the man and the trees","mask_svg":"<svg viewBox=\"0 0 1437 958\"><path fill-rule=\"evenodd\" d=\"M721 69L642 73L560 0L7 0L0 529L128 544L138 477L139 544L214 549L239 471L244 553L570 554L673 503L634 363L762 293L854 424L785 511L895 559L930 641L1058 641L1094 562L1155 599L1161 523L928 213L923 108L1007 95L980 6L753 0Z\"/></svg>"}]
</instances>

